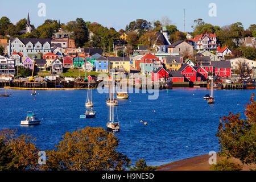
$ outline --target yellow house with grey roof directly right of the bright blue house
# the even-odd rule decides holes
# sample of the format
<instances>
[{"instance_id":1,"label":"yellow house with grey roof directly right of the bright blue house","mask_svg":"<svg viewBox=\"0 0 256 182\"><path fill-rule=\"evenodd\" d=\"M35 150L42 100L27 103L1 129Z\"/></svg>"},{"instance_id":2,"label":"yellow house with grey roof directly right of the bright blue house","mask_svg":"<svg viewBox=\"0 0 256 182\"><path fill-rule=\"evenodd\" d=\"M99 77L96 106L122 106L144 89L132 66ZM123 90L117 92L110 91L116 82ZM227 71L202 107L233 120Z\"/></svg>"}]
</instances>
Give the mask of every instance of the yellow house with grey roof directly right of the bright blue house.
<instances>
[{"instance_id":1,"label":"yellow house with grey roof directly right of the bright blue house","mask_svg":"<svg viewBox=\"0 0 256 182\"><path fill-rule=\"evenodd\" d=\"M115 69L118 72L130 73L130 58L129 57L108 57L110 69Z\"/></svg>"}]
</instances>

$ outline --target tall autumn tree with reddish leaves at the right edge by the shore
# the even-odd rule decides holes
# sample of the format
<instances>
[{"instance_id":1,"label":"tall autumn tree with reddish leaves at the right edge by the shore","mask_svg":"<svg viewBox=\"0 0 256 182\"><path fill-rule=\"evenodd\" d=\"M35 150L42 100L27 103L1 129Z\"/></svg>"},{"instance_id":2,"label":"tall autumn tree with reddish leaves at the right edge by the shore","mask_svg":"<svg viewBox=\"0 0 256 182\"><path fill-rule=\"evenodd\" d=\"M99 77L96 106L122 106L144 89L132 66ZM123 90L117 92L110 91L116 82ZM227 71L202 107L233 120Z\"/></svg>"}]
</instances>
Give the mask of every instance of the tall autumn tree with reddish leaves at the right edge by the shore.
<instances>
[{"instance_id":1,"label":"tall autumn tree with reddish leaves at the right edge by the shore","mask_svg":"<svg viewBox=\"0 0 256 182\"><path fill-rule=\"evenodd\" d=\"M240 113L229 113L228 117L220 118L218 137L220 155L240 159L243 164L256 164L256 101L245 107L246 119L240 119Z\"/></svg>"}]
</instances>

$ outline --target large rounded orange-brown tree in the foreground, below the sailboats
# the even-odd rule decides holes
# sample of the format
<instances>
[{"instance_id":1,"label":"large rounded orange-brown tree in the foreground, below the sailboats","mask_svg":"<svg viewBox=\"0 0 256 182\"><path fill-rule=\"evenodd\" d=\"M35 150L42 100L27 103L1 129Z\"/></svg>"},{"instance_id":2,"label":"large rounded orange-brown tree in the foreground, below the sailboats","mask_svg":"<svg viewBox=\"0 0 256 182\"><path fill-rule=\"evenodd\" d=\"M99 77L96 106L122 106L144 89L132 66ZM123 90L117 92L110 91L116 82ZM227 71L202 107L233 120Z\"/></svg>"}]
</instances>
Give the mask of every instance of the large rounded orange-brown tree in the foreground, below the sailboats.
<instances>
[{"instance_id":1,"label":"large rounded orange-brown tree in the foreground, below the sailboats","mask_svg":"<svg viewBox=\"0 0 256 182\"><path fill-rule=\"evenodd\" d=\"M56 145L57 150L47 151L43 170L124 170L130 160L117 152L119 141L112 133L101 127L77 129L65 133Z\"/></svg>"}]
</instances>

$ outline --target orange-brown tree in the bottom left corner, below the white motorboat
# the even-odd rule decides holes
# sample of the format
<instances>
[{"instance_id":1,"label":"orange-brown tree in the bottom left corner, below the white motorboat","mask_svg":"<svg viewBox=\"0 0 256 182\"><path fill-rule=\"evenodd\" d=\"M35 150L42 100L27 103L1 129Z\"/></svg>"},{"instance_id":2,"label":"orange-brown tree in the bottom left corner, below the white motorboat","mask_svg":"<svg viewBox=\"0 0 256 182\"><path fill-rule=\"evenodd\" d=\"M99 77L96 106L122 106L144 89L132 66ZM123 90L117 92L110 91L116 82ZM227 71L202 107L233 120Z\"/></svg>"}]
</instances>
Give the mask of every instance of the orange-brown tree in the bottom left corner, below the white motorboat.
<instances>
[{"instance_id":1,"label":"orange-brown tree in the bottom left corner, below the white motorboat","mask_svg":"<svg viewBox=\"0 0 256 182\"><path fill-rule=\"evenodd\" d=\"M1 142L2 140L2 142ZM38 167L38 148L31 136L16 134L15 130L0 131L0 163L4 170L31 170Z\"/></svg>"}]
</instances>

